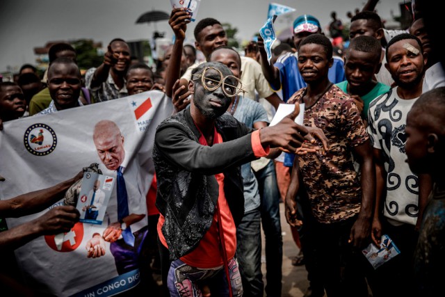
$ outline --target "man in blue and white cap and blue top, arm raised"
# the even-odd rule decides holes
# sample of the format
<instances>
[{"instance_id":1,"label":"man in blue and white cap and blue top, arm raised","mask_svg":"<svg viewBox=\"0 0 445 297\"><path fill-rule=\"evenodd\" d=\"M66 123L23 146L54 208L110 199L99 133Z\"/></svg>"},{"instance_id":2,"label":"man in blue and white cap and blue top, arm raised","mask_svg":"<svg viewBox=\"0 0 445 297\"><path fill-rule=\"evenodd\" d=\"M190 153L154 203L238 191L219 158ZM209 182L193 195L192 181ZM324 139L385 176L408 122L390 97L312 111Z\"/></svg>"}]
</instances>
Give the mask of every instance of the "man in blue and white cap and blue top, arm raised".
<instances>
[{"instance_id":1,"label":"man in blue and white cap and blue top, arm raised","mask_svg":"<svg viewBox=\"0 0 445 297\"><path fill-rule=\"evenodd\" d=\"M312 15L300 15L300 17L297 17L293 22L293 44L296 49L298 49L298 45L300 45L302 40L314 33L322 33L318 19ZM287 102L293 93L306 86L298 71L298 53L284 54L278 58L274 65L270 65L267 61L267 54L261 37L258 38L258 41L264 77L266 77L273 90L282 90L282 99L284 102ZM346 79L343 66L343 59L339 56L334 56L334 65L330 67L328 74L329 80L332 83L339 83Z\"/></svg>"}]
</instances>

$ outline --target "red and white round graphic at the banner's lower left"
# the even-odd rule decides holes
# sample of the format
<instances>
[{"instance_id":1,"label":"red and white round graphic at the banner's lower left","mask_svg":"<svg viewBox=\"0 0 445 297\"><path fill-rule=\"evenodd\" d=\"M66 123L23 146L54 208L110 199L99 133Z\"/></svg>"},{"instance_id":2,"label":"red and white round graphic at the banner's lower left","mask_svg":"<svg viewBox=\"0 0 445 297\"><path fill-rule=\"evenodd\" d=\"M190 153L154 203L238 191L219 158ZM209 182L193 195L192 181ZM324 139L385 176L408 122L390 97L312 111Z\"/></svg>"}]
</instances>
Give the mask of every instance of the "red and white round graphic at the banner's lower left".
<instances>
[{"instance_id":1,"label":"red and white round graphic at the banner's lower left","mask_svg":"<svg viewBox=\"0 0 445 297\"><path fill-rule=\"evenodd\" d=\"M72 252L78 248L83 239L83 223L76 223L67 233L45 235L44 241L56 252Z\"/></svg>"}]
</instances>

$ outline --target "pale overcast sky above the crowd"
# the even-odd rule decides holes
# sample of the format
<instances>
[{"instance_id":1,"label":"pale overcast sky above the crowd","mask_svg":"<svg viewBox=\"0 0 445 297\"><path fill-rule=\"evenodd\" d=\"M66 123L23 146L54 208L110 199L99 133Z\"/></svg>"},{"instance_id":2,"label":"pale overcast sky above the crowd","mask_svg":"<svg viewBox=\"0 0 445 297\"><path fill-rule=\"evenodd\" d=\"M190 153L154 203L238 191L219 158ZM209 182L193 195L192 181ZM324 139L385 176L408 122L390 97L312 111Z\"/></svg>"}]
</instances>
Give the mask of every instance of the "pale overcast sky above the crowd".
<instances>
[{"instance_id":1,"label":"pale overcast sky above the crowd","mask_svg":"<svg viewBox=\"0 0 445 297\"><path fill-rule=\"evenodd\" d=\"M289 17L279 17L275 29L291 26L298 15L308 13L317 17L323 29L330 22L330 13L347 20L346 12L362 8L363 0L202 0L197 19L214 17L238 28L236 37L250 40L266 21L268 4L280 3L296 8ZM390 11L400 15L401 0L381 0L377 10L382 19L391 20ZM172 38L168 21L156 24L136 24L136 19L149 10L170 13L170 0L0 0L0 72L8 66L35 64L34 47L48 41L91 38L106 45L113 38L127 41L147 40L155 30ZM188 40L193 40L191 24Z\"/></svg>"}]
</instances>

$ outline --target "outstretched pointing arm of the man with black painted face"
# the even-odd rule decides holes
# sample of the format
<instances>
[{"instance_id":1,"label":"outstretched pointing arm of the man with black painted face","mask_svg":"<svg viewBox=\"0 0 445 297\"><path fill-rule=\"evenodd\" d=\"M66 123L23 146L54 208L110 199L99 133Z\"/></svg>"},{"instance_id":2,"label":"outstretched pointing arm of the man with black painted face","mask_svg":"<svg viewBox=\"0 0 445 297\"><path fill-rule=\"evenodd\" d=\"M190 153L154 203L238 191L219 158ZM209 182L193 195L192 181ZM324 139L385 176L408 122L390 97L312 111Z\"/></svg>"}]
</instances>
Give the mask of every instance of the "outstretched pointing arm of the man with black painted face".
<instances>
[{"instance_id":1,"label":"outstretched pointing arm of the man with black painted face","mask_svg":"<svg viewBox=\"0 0 445 297\"><path fill-rule=\"evenodd\" d=\"M282 150L296 152L297 147L300 147L305 139L312 141L314 138L308 133L306 127L294 122L298 112L299 105L296 104L295 111L277 125L259 130L259 143L264 148L281 147ZM159 153L172 163L177 163L191 172L214 175L225 168L240 166L256 159L250 129L244 125L239 126L238 129L241 129L238 135L245 136L210 147L200 145L188 138L188 134L180 125L168 124L158 128L154 143Z\"/></svg>"}]
</instances>

